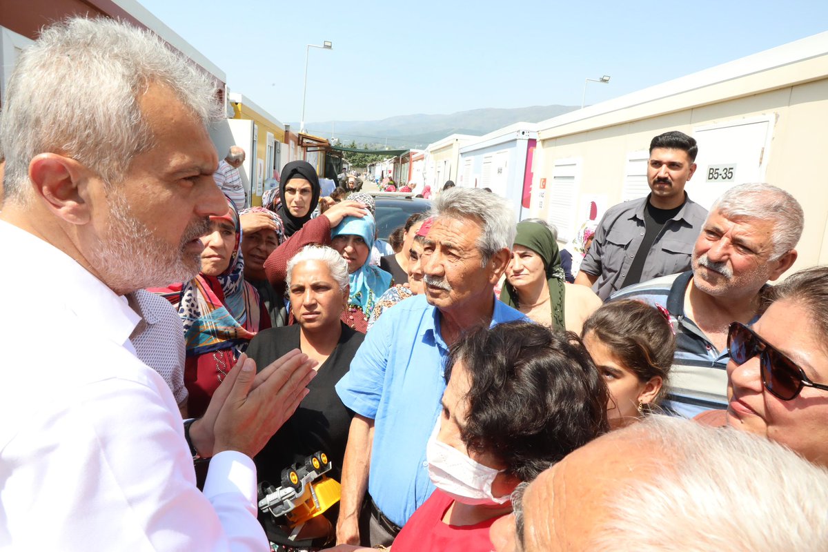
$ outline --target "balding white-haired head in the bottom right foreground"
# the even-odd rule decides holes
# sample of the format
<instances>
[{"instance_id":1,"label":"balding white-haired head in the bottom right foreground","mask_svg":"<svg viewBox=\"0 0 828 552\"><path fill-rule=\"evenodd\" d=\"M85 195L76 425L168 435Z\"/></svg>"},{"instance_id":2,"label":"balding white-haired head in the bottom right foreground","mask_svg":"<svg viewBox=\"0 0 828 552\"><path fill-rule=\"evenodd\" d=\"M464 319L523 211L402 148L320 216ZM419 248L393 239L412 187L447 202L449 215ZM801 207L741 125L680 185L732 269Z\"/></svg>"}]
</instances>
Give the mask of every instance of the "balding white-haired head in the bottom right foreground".
<instances>
[{"instance_id":1,"label":"balding white-haired head in the bottom right foreground","mask_svg":"<svg viewBox=\"0 0 828 552\"><path fill-rule=\"evenodd\" d=\"M828 470L753 434L653 415L513 492L497 552L828 550Z\"/></svg>"}]
</instances>

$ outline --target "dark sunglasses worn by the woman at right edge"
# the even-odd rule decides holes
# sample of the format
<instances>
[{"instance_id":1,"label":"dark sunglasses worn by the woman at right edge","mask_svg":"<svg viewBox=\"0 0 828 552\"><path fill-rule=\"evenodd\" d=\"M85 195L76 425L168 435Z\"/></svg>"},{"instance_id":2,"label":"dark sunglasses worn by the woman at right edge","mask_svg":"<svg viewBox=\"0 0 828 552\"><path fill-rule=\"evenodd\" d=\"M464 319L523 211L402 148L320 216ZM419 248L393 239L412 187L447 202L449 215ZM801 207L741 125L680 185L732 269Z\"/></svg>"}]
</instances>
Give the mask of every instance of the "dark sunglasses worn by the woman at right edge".
<instances>
[{"instance_id":1,"label":"dark sunglasses worn by the woman at right edge","mask_svg":"<svg viewBox=\"0 0 828 552\"><path fill-rule=\"evenodd\" d=\"M799 395L802 387L828 391L828 386L811 382L796 362L740 322L730 324L727 346L730 358L737 364L744 364L758 355L765 389L782 401L791 401Z\"/></svg>"}]
</instances>

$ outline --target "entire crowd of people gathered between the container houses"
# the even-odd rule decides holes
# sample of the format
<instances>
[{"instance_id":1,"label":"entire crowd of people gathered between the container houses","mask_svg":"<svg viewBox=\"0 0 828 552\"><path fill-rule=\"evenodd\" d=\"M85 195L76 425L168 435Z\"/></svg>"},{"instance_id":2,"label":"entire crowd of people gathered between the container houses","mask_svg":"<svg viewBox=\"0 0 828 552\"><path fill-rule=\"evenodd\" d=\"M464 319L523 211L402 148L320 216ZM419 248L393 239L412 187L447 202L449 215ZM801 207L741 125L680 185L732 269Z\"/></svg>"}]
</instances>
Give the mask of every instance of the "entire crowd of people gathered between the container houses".
<instances>
[{"instance_id":1,"label":"entire crowd of people gathered between the container houses","mask_svg":"<svg viewBox=\"0 0 828 552\"><path fill-rule=\"evenodd\" d=\"M245 209L215 98L123 22L20 56L0 548L828 548L828 267L768 284L797 259L790 194L737 185L707 212L695 141L666 132L651 194L563 250L449 183L391 252L361 183L325 195L306 161ZM319 458L334 506L258 507Z\"/></svg>"}]
</instances>

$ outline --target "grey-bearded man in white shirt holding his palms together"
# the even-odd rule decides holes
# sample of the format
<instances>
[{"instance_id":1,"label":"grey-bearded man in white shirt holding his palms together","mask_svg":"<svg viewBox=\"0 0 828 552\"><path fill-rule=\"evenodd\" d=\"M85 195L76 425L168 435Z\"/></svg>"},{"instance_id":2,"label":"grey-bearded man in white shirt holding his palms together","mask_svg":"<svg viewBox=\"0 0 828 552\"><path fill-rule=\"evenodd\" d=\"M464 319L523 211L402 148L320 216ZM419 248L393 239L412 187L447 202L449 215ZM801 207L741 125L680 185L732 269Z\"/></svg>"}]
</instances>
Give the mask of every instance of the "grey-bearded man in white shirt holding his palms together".
<instances>
[{"instance_id":1,"label":"grey-bearded man in white shirt holding his palms together","mask_svg":"<svg viewBox=\"0 0 828 552\"><path fill-rule=\"evenodd\" d=\"M130 341L125 295L194 276L227 209L214 98L181 55L112 20L46 28L17 62L0 121L0 256L18 266L0 271L0 549L267 550L250 457L313 362L292 352L258 376L241 362L188 449ZM213 457L204 494L194 452Z\"/></svg>"}]
</instances>

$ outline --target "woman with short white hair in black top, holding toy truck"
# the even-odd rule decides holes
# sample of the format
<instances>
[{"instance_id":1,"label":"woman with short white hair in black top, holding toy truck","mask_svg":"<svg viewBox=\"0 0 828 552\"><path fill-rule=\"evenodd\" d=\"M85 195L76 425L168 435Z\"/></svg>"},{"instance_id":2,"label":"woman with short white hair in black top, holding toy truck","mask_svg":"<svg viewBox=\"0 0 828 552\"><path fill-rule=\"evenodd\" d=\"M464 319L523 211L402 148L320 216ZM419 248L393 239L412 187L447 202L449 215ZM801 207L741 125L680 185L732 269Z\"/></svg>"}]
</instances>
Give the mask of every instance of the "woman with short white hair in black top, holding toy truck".
<instances>
[{"instance_id":1,"label":"woman with short white hair in black top, holding toy truck","mask_svg":"<svg viewBox=\"0 0 828 552\"><path fill-rule=\"evenodd\" d=\"M339 481L354 413L339 400L334 386L348 372L364 338L339 320L348 302L348 265L330 247L307 246L288 262L286 276L297 324L260 332L250 343L248 356L258 367L267 367L286 352L300 348L319 362L318 375L308 385L310 392L296 413L254 458L258 478L278 487L283 468L322 451L333 464L327 475ZM308 521L292 541L287 540L291 529L283 517L260 511L259 520L277 545L321 547L335 535L338 506Z\"/></svg>"}]
</instances>

